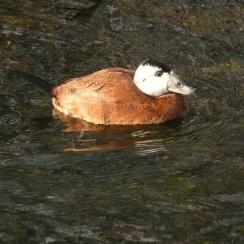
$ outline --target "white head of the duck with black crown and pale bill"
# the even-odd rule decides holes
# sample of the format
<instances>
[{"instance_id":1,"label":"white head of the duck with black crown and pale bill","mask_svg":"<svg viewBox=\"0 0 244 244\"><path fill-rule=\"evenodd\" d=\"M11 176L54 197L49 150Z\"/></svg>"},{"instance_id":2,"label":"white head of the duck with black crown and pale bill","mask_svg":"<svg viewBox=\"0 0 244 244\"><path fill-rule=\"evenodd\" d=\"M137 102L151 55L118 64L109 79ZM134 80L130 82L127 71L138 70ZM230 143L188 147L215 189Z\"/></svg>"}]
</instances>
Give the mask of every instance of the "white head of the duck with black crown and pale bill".
<instances>
[{"instance_id":1,"label":"white head of the duck with black crown and pale bill","mask_svg":"<svg viewBox=\"0 0 244 244\"><path fill-rule=\"evenodd\" d=\"M190 95L195 91L183 81L167 65L145 60L136 69L134 83L145 94L159 97L167 92Z\"/></svg>"}]
</instances>

